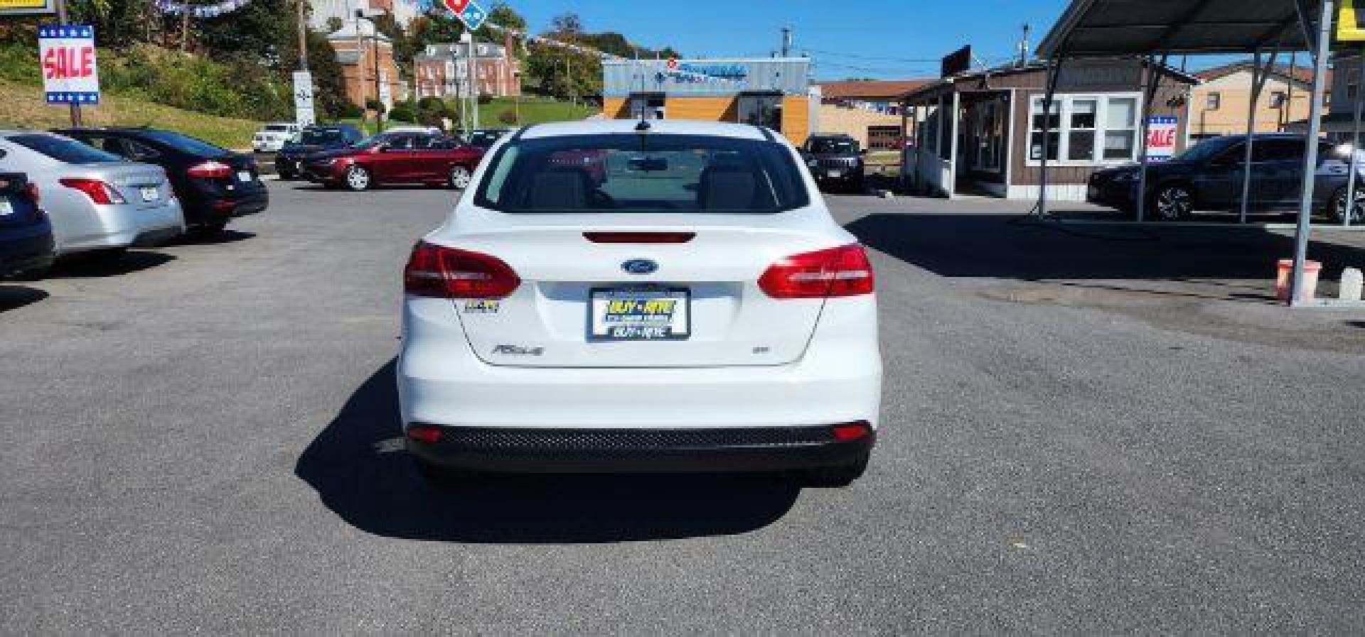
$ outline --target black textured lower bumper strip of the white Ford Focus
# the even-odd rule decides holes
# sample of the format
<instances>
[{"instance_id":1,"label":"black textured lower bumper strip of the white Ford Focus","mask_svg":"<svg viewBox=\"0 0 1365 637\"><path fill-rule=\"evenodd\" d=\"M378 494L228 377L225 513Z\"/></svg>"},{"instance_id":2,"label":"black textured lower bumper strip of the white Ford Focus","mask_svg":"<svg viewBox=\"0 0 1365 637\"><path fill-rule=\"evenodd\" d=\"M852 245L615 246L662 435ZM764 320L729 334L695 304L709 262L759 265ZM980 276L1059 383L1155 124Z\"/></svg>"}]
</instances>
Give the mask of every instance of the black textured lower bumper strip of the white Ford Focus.
<instances>
[{"instance_id":1,"label":"black textured lower bumper strip of the white Ford Focus","mask_svg":"<svg viewBox=\"0 0 1365 637\"><path fill-rule=\"evenodd\" d=\"M571 430L438 427L408 438L423 462L490 472L752 472L857 462L875 434L838 441L831 427Z\"/></svg>"}]
</instances>

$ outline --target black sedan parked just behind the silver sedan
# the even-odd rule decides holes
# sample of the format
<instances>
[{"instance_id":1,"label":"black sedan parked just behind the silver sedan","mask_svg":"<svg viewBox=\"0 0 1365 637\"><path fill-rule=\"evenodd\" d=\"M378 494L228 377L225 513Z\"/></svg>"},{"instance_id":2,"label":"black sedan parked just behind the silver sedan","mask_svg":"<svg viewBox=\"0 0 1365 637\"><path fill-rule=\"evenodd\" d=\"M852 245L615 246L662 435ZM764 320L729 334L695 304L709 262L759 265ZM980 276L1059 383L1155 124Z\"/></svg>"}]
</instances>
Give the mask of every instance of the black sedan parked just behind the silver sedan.
<instances>
[{"instance_id":1,"label":"black sedan parked just behind the silver sedan","mask_svg":"<svg viewBox=\"0 0 1365 637\"><path fill-rule=\"evenodd\" d=\"M180 199L186 225L213 236L233 217L255 214L270 205L255 160L202 139L156 128L71 128L60 132L131 161L167 171Z\"/></svg>"}]
</instances>

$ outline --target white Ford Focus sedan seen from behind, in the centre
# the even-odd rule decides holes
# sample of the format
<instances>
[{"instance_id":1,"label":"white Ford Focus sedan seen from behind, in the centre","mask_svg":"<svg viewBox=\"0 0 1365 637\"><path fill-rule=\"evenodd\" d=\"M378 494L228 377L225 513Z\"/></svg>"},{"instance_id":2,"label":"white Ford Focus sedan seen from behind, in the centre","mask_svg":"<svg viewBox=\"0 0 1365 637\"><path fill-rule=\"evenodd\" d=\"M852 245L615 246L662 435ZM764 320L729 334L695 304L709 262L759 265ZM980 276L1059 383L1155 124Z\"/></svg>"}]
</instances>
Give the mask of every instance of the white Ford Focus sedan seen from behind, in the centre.
<instances>
[{"instance_id":1,"label":"white Ford Focus sedan seen from behind, in the centre","mask_svg":"<svg viewBox=\"0 0 1365 637\"><path fill-rule=\"evenodd\" d=\"M766 128L505 136L404 271L423 475L782 472L845 486L882 390L867 252Z\"/></svg>"}]
</instances>

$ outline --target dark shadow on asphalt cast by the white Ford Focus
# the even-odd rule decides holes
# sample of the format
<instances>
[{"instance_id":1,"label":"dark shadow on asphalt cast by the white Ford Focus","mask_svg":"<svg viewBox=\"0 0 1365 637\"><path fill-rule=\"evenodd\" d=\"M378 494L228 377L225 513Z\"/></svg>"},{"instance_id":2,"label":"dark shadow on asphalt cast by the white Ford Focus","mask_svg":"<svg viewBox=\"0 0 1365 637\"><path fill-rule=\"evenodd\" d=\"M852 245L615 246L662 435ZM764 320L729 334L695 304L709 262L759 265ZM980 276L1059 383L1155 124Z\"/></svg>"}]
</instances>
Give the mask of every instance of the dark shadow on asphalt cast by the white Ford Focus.
<instances>
[{"instance_id":1,"label":"dark shadow on asphalt cast by the white Ford Focus","mask_svg":"<svg viewBox=\"0 0 1365 637\"><path fill-rule=\"evenodd\" d=\"M792 509L790 480L728 475L489 476L433 488L401 450L394 361L299 456L295 475L375 535L468 543L606 543L733 535Z\"/></svg>"}]
</instances>

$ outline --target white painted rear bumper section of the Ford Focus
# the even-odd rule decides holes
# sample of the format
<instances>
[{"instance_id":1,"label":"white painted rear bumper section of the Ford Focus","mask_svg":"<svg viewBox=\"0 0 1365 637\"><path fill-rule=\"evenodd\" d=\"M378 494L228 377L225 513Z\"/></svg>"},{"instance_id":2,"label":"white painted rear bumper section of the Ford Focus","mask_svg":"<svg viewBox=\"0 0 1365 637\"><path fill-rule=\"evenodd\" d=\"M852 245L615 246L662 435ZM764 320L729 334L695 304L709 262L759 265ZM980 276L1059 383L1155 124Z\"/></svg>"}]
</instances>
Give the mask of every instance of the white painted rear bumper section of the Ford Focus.
<instances>
[{"instance_id":1,"label":"white painted rear bumper section of the Ford Focus","mask_svg":"<svg viewBox=\"0 0 1365 637\"><path fill-rule=\"evenodd\" d=\"M404 423L523 428L744 428L867 421L882 400L876 307L827 304L793 363L733 367L509 367L479 360L445 299L404 303Z\"/></svg>"}]
</instances>

